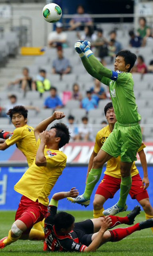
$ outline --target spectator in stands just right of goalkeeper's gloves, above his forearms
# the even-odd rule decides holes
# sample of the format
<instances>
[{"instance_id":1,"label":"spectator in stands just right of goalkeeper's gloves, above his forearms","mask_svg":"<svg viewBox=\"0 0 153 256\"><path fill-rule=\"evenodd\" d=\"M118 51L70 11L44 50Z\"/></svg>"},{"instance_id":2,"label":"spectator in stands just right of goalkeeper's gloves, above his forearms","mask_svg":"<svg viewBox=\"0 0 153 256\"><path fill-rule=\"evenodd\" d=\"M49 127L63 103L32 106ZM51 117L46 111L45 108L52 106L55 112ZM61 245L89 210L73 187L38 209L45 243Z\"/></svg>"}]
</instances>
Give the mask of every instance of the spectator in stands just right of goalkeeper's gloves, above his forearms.
<instances>
[{"instance_id":1,"label":"spectator in stands just right of goalkeeper's gloves, above his forearms","mask_svg":"<svg viewBox=\"0 0 153 256\"><path fill-rule=\"evenodd\" d=\"M104 57L108 56L108 41L103 37L103 30L97 29L97 39L91 44L95 47L95 56L101 60L103 65L106 65Z\"/></svg>"}]
</instances>

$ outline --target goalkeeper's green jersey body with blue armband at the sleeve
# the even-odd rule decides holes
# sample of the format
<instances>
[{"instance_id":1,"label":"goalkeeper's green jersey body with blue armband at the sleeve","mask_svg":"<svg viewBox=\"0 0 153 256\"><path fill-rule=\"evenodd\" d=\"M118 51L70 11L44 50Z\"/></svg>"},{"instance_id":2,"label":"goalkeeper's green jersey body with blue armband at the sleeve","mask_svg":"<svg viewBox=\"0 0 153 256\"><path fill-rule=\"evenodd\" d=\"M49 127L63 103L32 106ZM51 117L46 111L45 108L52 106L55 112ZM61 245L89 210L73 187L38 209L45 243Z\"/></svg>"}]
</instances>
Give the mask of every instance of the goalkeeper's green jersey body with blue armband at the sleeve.
<instances>
[{"instance_id":1,"label":"goalkeeper's green jersey body with blue armband at the sleeve","mask_svg":"<svg viewBox=\"0 0 153 256\"><path fill-rule=\"evenodd\" d=\"M133 92L133 78L131 73L113 71L111 80L103 76L101 82L109 86L111 100L115 110L117 122L120 124L133 124L141 120L140 114L137 112L137 104Z\"/></svg>"}]
</instances>

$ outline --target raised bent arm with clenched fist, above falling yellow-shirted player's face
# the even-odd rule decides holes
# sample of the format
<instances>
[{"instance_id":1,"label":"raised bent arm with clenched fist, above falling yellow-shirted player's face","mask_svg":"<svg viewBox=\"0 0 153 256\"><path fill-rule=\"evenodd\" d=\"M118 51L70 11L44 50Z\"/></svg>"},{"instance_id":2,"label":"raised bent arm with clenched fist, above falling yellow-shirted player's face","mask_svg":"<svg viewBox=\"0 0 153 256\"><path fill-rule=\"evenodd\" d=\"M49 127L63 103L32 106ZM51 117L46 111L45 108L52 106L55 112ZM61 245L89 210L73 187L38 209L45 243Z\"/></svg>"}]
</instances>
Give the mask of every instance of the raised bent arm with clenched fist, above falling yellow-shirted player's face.
<instances>
[{"instance_id":1,"label":"raised bent arm with clenched fist, above falling yellow-shirted player's face","mask_svg":"<svg viewBox=\"0 0 153 256\"><path fill-rule=\"evenodd\" d=\"M55 111L52 116L42 121L36 128L34 129L34 135L36 138L36 141L39 139L39 135L41 132L45 131L49 124L51 124L54 120L59 120L64 118L65 115L63 112Z\"/></svg>"}]
</instances>

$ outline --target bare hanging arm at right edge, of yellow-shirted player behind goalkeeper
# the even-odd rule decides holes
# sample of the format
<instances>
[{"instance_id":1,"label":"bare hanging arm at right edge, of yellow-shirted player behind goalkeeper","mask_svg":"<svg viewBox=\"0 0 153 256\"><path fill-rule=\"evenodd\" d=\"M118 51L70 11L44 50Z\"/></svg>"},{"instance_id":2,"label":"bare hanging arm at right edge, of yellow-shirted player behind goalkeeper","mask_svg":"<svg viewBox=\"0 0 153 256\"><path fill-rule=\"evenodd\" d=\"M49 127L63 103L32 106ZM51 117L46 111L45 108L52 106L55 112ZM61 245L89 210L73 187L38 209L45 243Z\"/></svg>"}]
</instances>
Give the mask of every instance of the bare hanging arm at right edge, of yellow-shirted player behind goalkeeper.
<instances>
[{"instance_id":1,"label":"bare hanging arm at right edge, of yellow-shirted player behind goalkeeper","mask_svg":"<svg viewBox=\"0 0 153 256\"><path fill-rule=\"evenodd\" d=\"M142 184L144 186L144 189L149 187L149 178L148 178L148 170L147 170L147 160L146 160L146 156L145 156L145 152L144 150L141 150L138 152L139 157L140 157L140 161L141 161L141 165L143 168L143 180L142 180Z\"/></svg>"}]
</instances>

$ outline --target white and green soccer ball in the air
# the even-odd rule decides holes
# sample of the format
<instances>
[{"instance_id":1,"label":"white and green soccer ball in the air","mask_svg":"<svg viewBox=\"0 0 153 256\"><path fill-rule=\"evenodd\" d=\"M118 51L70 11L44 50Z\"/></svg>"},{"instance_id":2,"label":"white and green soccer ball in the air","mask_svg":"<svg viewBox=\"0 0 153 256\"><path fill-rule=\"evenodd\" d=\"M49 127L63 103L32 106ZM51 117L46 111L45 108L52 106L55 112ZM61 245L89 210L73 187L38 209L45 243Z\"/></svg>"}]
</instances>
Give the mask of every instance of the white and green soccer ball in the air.
<instances>
[{"instance_id":1,"label":"white and green soccer ball in the air","mask_svg":"<svg viewBox=\"0 0 153 256\"><path fill-rule=\"evenodd\" d=\"M46 4L42 10L42 15L47 22L57 22L62 16L62 10L58 4Z\"/></svg>"}]
</instances>

